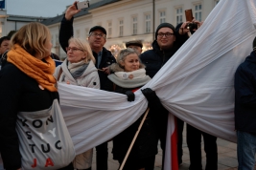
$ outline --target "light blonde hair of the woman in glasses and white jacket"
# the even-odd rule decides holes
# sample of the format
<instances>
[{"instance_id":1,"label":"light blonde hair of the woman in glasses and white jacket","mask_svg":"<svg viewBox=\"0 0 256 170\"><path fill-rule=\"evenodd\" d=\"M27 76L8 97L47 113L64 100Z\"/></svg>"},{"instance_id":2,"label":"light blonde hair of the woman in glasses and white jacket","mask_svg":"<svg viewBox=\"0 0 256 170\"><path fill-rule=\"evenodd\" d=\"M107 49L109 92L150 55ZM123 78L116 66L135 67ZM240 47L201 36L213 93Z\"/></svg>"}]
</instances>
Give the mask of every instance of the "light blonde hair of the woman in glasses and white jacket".
<instances>
[{"instance_id":1,"label":"light blonde hair of the woman in glasses and white jacket","mask_svg":"<svg viewBox=\"0 0 256 170\"><path fill-rule=\"evenodd\" d=\"M81 49L84 53L87 52L87 57L83 59L85 63L88 63L90 60L92 60L94 64L96 63L96 60L92 54L91 47L87 40L72 37L68 40L68 44L70 43L74 43L76 47Z\"/></svg>"}]
</instances>

